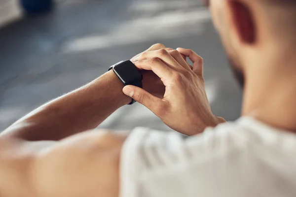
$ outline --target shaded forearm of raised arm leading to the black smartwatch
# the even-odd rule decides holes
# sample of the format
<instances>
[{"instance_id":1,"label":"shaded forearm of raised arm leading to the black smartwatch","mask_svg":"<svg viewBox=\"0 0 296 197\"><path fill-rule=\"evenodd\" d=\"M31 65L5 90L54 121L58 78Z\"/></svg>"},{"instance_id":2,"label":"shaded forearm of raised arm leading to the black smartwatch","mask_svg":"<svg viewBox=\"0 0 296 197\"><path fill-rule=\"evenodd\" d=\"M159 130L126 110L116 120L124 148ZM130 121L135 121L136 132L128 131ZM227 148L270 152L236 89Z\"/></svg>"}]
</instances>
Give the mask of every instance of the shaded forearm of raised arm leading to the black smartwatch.
<instances>
[{"instance_id":1,"label":"shaded forearm of raised arm leading to the black smartwatch","mask_svg":"<svg viewBox=\"0 0 296 197\"><path fill-rule=\"evenodd\" d=\"M96 128L117 108L130 102L112 71L54 99L23 117L2 135L26 140L59 140Z\"/></svg>"}]
</instances>

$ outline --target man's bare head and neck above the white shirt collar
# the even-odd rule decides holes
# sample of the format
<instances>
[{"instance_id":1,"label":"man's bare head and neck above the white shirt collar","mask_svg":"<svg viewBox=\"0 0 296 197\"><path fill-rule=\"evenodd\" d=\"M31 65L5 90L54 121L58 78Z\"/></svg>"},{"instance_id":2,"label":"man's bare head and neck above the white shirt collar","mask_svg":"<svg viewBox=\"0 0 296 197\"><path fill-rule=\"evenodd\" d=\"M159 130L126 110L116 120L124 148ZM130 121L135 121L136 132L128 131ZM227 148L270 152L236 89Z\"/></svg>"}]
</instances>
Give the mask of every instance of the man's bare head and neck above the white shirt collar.
<instances>
[{"instance_id":1,"label":"man's bare head and neck above the white shirt collar","mask_svg":"<svg viewBox=\"0 0 296 197\"><path fill-rule=\"evenodd\" d=\"M244 84L242 115L296 131L296 1L211 0L213 22Z\"/></svg>"}]
</instances>

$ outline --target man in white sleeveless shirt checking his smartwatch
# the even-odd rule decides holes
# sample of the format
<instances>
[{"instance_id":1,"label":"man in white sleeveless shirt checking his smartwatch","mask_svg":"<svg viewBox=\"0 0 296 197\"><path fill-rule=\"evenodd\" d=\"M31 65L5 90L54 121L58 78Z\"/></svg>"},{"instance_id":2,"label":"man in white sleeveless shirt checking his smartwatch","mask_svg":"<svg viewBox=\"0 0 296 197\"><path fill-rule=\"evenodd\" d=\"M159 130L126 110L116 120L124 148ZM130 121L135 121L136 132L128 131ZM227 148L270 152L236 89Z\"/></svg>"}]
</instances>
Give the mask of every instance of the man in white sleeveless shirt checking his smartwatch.
<instances>
[{"instance_id":1,"label":"man in white sleeveless shirt checking his smartwatch","mask_svg":"<svg viewBox=\"0 0 296 197\"><path fill-rule=\"evenodd\" d=\"M209 4L244 87L238 121L211 112L198 55L156 44L132 59L143 89L123 87L111 70L4 131L0 196L296 196L296 0ZM89 131L130 97L192 136Z\"/></svg>"}]
</instances>

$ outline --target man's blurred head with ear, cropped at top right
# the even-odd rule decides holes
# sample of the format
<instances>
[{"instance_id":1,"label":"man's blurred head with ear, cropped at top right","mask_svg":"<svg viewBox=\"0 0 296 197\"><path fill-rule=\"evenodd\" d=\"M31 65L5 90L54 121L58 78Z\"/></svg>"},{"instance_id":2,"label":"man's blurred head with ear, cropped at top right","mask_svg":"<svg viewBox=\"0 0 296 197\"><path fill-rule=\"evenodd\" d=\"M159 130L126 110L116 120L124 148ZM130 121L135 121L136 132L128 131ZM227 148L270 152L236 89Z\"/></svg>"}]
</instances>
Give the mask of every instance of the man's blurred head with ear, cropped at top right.
<instances>
[{"instance_id":1,"label":"man's blurred head with ear, cropped at top right","mask_svg":"<svg viewBox=\"0 0 296 197\"><path fill-rule=\"evenodd\" d=\"M296 0L203 1L210 6L213 23L242 86L245 78L248 80L247 72L263 74L268 59L283 58L283 53L296 46Z\"/></svg>"}]
</instances>

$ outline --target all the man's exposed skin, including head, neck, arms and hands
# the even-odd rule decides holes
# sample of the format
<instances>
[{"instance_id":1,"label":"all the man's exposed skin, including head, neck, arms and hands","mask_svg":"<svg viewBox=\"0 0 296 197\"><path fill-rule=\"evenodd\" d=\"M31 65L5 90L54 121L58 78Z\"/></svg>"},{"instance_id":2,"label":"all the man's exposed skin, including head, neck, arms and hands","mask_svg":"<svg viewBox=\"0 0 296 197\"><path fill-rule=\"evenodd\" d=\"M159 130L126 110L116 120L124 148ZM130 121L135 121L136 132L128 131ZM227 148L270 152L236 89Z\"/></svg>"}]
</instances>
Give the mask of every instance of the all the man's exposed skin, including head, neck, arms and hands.
<instances>
[{"instance_id":1,"label":"all the man's exposed skin, including head, neck, arms and hands","mask_svg":"<svg viewBox=\"0 0 296 197\"><path fill-rule=\"evenodd\" d=\"M210 4L215 27L244 87L243 115L296 131L295 1L212 0ZM123 88L108 72L43 105L0 135L1 197L118 197L120 150L126 136L86 130L128 103L124 94L183 133L200 132L223 121L208 106L202 59L191 50L158 44L137 57L132 60L138 68L152 70L161 80L147 72L145 90ZM185 57L192 60L192 67ZM191 101L185 103L187 98ZM184 119L185 115L190 118Z\"/></svg>"}]
</instances>

